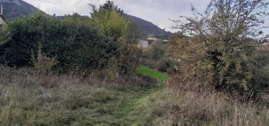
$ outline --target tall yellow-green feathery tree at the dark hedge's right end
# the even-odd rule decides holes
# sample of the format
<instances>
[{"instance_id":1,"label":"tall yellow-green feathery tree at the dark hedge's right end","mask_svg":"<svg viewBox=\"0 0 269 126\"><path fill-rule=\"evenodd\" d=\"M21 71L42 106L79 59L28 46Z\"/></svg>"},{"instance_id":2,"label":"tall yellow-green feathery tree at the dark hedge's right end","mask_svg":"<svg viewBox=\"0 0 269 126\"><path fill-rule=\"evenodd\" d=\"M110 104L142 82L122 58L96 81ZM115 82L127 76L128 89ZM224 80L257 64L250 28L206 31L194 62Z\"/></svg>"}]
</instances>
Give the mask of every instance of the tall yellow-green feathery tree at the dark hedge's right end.
<instances>
[{"instance_id":1,"label":"tall yellow-green feathery tree at the dark hedge's right end","mask_svg":"<svg viewBox=\"0 0 269 126\"><path fill-rule=\"evenodd\" d=\"M113 8L113 9L112 9ZM115 56L117 60L117 70L121 75L129 75L138 66L139 55L142 49L136 46L140 38L140 30L137 25L128 20L125 15L119 12L116 5L107 1L97 9L91 5L91 19L98 24L102 32L111 37L117 44L119 54Z\"/></svg>"}]
</instances>

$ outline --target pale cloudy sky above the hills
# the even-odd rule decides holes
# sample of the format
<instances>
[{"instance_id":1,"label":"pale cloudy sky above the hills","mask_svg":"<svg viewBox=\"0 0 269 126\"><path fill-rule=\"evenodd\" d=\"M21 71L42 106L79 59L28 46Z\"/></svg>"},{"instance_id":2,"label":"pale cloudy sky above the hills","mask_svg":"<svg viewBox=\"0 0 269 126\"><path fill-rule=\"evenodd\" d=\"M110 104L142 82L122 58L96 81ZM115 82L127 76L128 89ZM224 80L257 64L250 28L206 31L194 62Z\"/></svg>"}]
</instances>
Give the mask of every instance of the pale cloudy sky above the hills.
<instances>
[{"instance_id":1,"label":"pale cloudy sky above the hills","mask_svg":"<svg viewBox=\"0 0 269 126\"><path fill-rule=\"evenodd\" d=\"M78 12L89 15L88 3L103 4L106 0L24 0L46 13L57 16ZM175 25L171 19L178 19L180 15L191 16L190 4L203 11L210 0L114 0L114 3L127 14L151 21L166 31L176 32L171 29ZM267 30L269 32L269 30Z\"/></svg>"}]
</instances>

